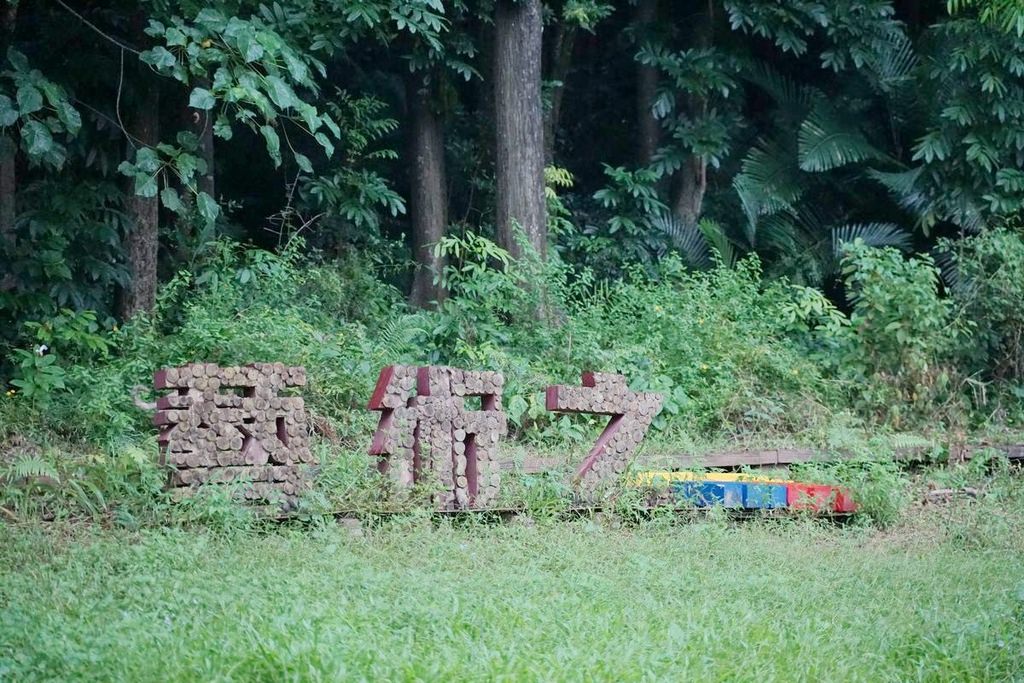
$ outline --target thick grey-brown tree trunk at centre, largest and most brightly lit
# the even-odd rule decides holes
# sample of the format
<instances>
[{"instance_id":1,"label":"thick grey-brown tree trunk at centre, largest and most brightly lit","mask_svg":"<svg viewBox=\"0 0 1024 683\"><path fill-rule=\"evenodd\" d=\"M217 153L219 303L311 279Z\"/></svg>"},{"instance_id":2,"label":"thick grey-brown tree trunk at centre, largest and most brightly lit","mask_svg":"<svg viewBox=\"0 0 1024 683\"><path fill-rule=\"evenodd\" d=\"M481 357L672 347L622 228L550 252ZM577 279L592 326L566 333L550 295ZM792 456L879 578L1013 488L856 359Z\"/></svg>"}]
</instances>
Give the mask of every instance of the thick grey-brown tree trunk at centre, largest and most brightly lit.
<instances>
[{"instance_id":1,"label":"thick grey-brown tree trunk at centre, largest and most brightly lit","mask_svg":"<svg viewBox=\"0 0 1024 683\"><path fill-rule=\"evenodd\" d=\"M541 105L541 0L498 0L495 12L495 119L499 244L522 255L521 229L546 257L544 114Z\"/></svg>"}]
</instances>

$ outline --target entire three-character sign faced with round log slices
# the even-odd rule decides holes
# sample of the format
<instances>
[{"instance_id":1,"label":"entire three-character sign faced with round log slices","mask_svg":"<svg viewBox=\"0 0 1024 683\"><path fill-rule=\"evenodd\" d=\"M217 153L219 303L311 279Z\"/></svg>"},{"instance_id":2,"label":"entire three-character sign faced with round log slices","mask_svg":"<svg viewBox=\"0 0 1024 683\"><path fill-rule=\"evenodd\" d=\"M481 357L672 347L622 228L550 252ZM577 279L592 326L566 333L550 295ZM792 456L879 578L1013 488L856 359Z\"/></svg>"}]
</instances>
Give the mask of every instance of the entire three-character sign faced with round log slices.
<instances>
[{"instance_id":1,"label":"entire three-character sign faced with round log slices","mask_svg":"<svg viewBox=\"0 0 1024 683\"><path fill-rule=\"evenodd\" d=\"M200 484L238 484L246 500L285 510L308 487L309 427L303 399L282 390L306 383L304 368L193 364L158 371L154 423L168 485L179 496ZM399 493L416 484L434 492L442 510L486 508L498 499L498 445L508 433L501 373L440 366L388 366L370 410L381 414L370 454ZM479 397L479 410L466 398ZM609 416L577 470L587 494L617 478L660 410L656 393L630 391L626 378L584 373L583 386L551 386L547 409Z\"/></svg>"}]
</instances>

